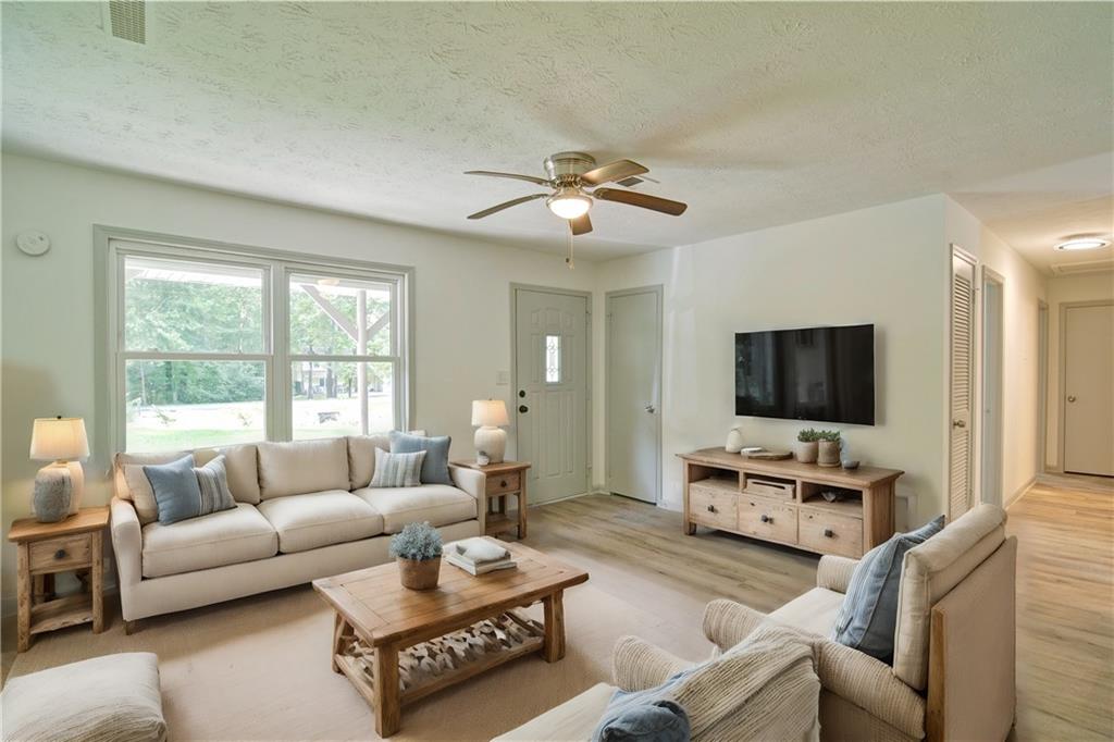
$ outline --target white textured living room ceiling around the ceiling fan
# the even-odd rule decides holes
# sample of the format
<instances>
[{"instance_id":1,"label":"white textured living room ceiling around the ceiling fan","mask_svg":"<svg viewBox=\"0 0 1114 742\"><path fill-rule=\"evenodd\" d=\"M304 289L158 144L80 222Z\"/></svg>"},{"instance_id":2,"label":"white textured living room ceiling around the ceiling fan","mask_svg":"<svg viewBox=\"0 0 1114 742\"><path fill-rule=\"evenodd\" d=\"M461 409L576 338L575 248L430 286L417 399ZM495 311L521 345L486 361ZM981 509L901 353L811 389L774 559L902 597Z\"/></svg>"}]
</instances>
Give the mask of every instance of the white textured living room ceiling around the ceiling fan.
<instances>
[{"instance_id":1,"label":"white textured living room ceiling around the ceiling fan","mask_svg":"<svg viewBox=\"0 0 1114 742\"><path fill-rule=\"evenodd\" d=\"M597 204L579 254L694 243L1108 152L1110 3L4 2L7 147L564 250L584 149L686 201ZM1037 204L1035 207L1039 207Z\"/></svg>"}]
</instances>

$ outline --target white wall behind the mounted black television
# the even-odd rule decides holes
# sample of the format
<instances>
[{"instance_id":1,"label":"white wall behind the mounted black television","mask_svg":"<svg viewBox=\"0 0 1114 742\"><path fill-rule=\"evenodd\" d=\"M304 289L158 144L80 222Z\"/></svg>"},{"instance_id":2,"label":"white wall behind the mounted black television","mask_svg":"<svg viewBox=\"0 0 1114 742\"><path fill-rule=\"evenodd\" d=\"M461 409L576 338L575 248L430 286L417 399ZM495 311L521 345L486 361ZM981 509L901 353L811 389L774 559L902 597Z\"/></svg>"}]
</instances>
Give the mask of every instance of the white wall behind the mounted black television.
<instances>
[{"instance_id":1,"label":"white wall behind the mounted black television","mask_svg":"<svg viewBox=\"0 0 1114 742\"><path fill-rule=\"evenodd\" d=\"M663 284L663 505L680 509L675 455L750 443L788 447L799 421L734 417L734 333L820 324L877 328L874 427L840 427L863 462L903 469L908 520L944 511L945 198L929 196L603 263L607 291ZM595 358L603 359L603 333ZM604 369L597 363L595 480L603 487ZM901 515L899 512L899 515Z\"/></svg>"}]
</instances>

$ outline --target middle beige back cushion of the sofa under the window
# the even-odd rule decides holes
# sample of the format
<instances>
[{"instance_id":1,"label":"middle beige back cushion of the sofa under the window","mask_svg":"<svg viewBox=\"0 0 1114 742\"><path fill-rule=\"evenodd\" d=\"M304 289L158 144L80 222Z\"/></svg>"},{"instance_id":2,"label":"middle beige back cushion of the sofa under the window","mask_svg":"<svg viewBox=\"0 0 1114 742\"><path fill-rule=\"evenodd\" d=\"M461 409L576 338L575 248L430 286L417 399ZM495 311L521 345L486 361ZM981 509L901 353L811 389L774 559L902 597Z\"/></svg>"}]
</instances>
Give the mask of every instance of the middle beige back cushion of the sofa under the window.
<instances>
[{"instance_id":1,"label":"middle beige back cushion of the sofa under the window","mask_svg":"<svg viewBox=\"0 0 1114 742\"><path fill-rule=\"evenodd\" d=\"M348 490L348 442L343 438L260 443L260 497Z\"/></svg>"}]
</instances>

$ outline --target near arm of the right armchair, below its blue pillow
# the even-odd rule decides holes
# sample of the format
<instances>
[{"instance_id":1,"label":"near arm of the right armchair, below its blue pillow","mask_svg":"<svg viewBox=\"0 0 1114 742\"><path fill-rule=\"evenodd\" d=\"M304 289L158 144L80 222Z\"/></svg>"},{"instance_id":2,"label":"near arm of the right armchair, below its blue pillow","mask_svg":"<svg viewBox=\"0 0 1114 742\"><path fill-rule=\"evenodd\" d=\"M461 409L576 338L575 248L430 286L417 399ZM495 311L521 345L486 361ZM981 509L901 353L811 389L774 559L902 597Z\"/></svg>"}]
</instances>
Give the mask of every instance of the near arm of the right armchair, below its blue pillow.
<instances>
[{"instance_id":1,"label":"near arm of the right armchair, below its blue pillow","mask_svg":"<svg viewBox=\"0 0 1114 742\"><path fill-rule=\"evenodd\" d=\"M818 642L817 655L817 675L824 690L915 740L925 736L925 699L892 667L827 638Z\"/></svg>"}]
</instances>

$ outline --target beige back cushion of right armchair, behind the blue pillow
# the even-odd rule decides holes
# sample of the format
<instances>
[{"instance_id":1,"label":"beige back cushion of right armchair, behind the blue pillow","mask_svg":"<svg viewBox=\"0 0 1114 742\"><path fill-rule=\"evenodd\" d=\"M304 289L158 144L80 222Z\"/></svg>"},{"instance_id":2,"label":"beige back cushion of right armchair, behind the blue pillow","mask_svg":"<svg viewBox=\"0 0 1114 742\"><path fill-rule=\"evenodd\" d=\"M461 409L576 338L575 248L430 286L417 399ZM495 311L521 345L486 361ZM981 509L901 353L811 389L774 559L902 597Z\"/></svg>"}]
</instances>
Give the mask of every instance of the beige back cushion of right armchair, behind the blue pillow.
<instances>
[{"instance_id":1,"label":"beige back cushion of right armchair, behind the blue pillow","mask_svg":"<svg viewBox=\"0 0 1114 742\"><path fill-rule=\"evenodd\" d=\"M918 691L928 685L932 606L1006 540L1006 511L983 504L910 549L901 567L893 674Z\"/></svg>"}]
</instances>

